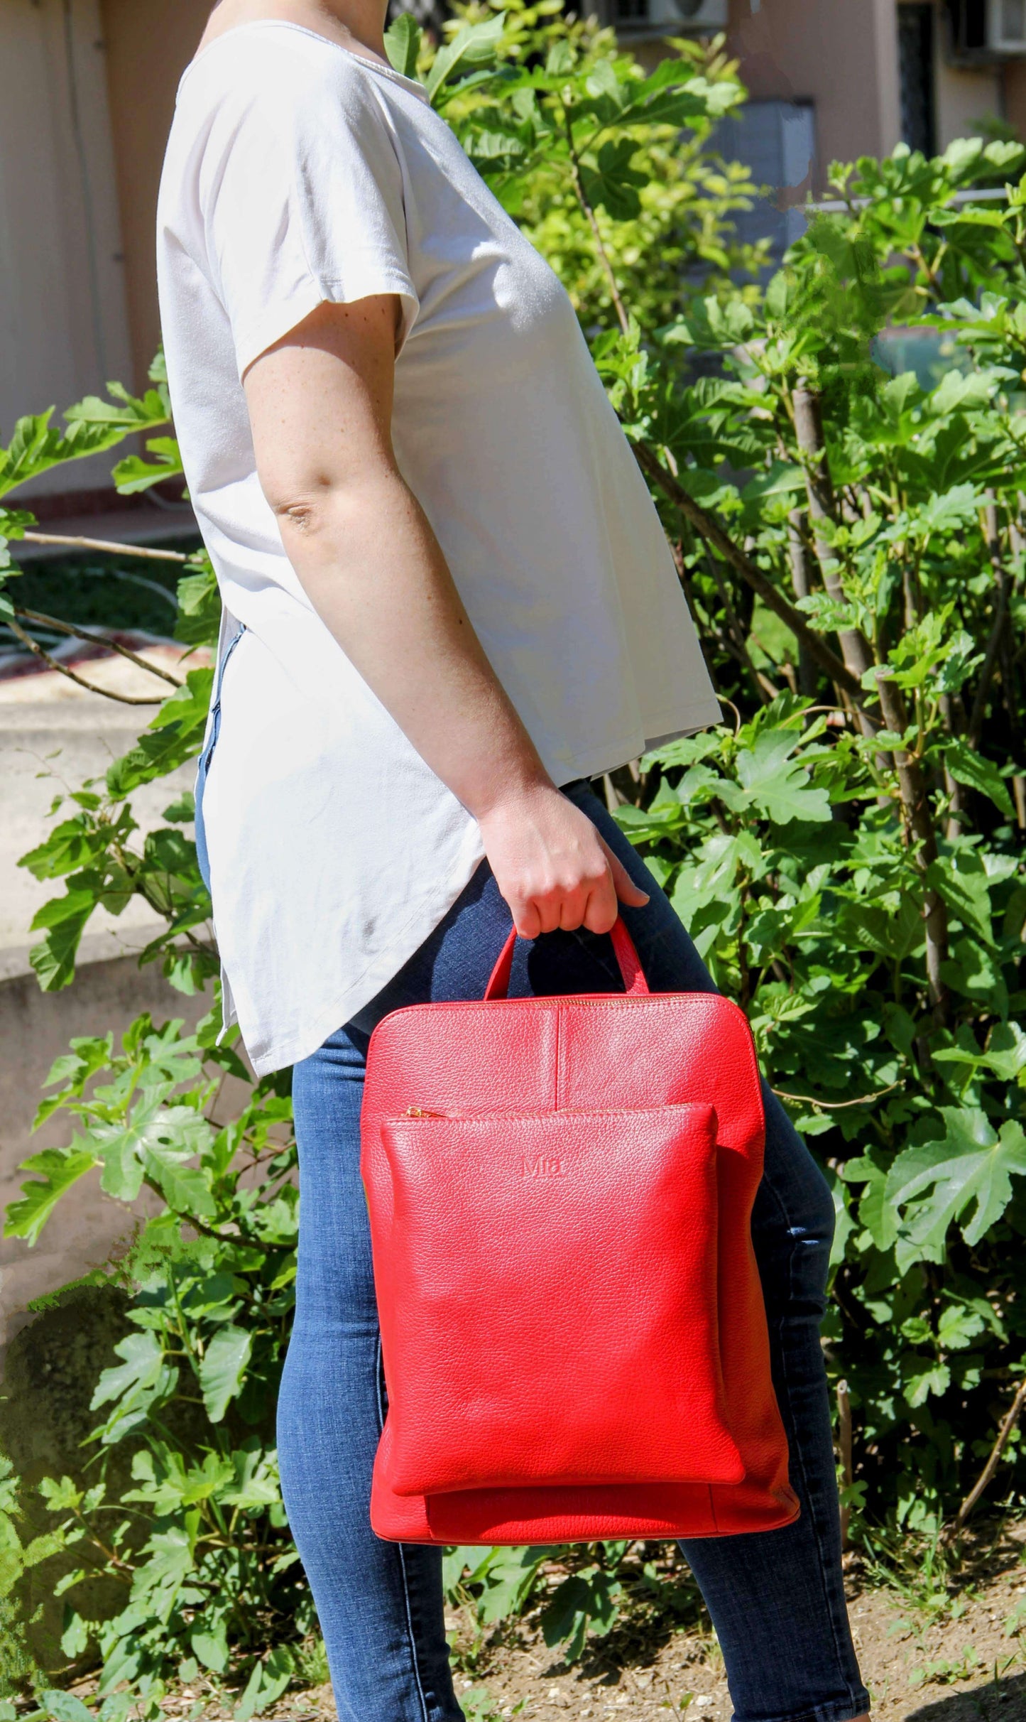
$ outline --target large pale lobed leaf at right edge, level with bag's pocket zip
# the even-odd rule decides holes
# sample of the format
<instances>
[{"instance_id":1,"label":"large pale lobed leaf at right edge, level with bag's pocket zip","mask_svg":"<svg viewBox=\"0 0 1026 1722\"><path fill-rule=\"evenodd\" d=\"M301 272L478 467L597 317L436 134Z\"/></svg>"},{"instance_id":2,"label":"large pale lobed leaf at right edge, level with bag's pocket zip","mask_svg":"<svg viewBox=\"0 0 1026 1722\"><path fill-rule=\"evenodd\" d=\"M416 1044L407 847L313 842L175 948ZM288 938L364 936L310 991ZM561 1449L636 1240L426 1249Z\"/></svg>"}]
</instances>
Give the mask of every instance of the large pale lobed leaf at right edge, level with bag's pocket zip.
<instances>
[{"instance_id":1,"label":"large pale lobed leaf at right edge, level with bag's pocket zip","mask_svg":"<svg viewBox=\"0 0 1026 1722\"><path fill-rule=\"evenodd\" d=\"M1026 1174L1021 1124L1009 1119L998 1133L973 1107L942 1107L940 1118L943 1137L905 1149L887 1178L887 1200L911 1209L905 1228L931 1261L942 1261L952 1223L966 1243L980 1243L1012 1200L1012 1176Z\"/></svg>"}]
</instances>

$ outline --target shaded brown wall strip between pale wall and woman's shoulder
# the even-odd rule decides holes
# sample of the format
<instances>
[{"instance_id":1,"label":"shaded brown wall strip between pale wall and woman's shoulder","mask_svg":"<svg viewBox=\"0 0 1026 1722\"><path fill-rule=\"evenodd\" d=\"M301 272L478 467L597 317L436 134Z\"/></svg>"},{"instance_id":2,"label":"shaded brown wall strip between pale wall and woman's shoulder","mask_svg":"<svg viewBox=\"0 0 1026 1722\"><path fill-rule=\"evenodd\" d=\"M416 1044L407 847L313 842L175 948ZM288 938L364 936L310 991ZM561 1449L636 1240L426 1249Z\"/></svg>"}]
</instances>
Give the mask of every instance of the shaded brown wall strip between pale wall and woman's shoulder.
<instances>
[{"instance_id":1,"label":"shaded brown wall strip between pale wall and woman's shoulder","mask_svg":"<svg viewBox=\"0 0 1026 1722\"><path fill-rule=\"evenodd\" d=\"M133 374L138 387L160 339L153 212L164 145L177 81L203 34L210 3L212 0L100 0Z\"/></svg>"}]
</instances>

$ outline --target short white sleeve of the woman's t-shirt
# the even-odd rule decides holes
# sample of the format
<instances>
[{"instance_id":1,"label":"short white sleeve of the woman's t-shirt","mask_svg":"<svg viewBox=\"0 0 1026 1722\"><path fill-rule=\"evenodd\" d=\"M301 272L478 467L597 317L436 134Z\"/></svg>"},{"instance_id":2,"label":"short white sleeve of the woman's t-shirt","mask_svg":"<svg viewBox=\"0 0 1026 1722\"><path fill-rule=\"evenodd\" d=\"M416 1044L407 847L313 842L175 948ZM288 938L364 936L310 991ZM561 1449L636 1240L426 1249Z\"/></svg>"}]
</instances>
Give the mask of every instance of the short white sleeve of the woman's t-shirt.
<instances>
[{"instance_id":1,"label":"short white sleeve of the woman's t-shirt","mask_svg":"<svg viewBox=\"0 0 1026 1722\"><path fill-rule=\"evenodd\" d=\"M368 76L282 79L219 115L200 200L239 379L325 300L398 293L399 346L413 325L403 172Z\"/></svg>"}]
</instances>

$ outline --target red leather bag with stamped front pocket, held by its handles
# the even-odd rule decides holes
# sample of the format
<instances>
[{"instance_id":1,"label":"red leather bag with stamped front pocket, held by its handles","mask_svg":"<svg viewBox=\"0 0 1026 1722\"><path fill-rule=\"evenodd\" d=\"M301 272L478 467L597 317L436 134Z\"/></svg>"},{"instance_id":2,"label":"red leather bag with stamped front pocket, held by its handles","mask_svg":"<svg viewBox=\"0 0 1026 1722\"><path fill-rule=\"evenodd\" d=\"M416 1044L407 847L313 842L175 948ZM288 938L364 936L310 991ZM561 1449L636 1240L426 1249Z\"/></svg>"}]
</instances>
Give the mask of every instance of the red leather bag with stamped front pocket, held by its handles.
<instances>
[{"instance_id":1,"label":"red leather bag with stamped front pocket, held by its handles","mask_svg":"<svg viewBox=\"0 0 1026 1722\"><path fill-rule=\"evenodd\" d=\"M403 1543L726 1536L797 1517L751 1211L742 1011L649 994L418 1004L375 1028L362 1171Z\"/></svg>"}]
</instances>

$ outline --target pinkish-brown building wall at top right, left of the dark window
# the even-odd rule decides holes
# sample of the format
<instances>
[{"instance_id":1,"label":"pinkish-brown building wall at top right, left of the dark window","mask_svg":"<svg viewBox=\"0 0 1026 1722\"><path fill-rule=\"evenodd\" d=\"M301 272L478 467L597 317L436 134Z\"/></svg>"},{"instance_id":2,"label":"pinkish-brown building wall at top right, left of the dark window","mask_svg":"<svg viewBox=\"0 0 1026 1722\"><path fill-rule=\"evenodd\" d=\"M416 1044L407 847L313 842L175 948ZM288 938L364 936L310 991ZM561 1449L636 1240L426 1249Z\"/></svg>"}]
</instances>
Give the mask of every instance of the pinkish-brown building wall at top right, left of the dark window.
<instances>
[{"instance_id":1,"label":"pinkish-brown building wall at top right, left of the dark window","mask_svg":"<svg viewBox=\"0 0 1026 1722\"><path fill-rule=\"evenodd\" d=\"M830 162L899 141L893 0L732 0L728 46L752 98L814 103L813 191Z\"/></svg>"}]
</instances>

